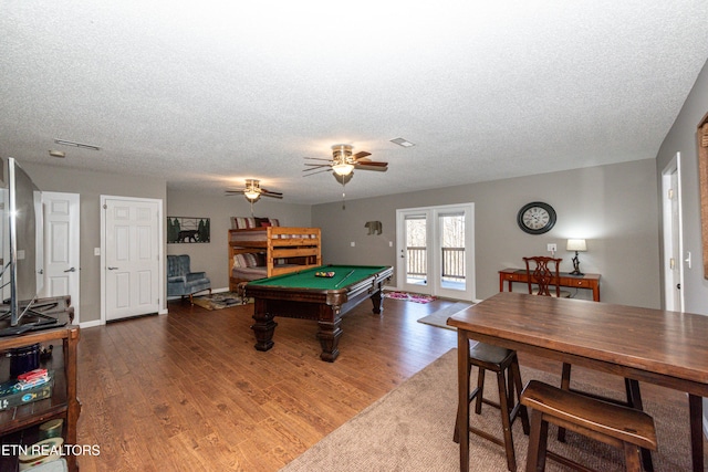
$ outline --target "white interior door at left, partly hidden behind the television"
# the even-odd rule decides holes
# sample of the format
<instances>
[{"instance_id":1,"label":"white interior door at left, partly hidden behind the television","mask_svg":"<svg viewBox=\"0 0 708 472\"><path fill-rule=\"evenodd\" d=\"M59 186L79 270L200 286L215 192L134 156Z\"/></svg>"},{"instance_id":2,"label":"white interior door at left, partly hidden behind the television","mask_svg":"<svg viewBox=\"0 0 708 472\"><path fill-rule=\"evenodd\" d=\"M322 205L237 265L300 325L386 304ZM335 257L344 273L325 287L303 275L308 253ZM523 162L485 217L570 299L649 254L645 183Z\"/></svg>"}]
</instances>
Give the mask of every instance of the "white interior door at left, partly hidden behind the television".
<instances>
[{"instance_id":1,"label":"white interior door at left, partly hidden behind the television","mask_svg":"<svg viewBox=\"0 0 708 472\"><path fill-rule=\"evenodd\" d=\"M74 323L80 313L80 196L42 192L44 213L44 271L40 296L70 295Z\"/></svg>"}]
</instances>

